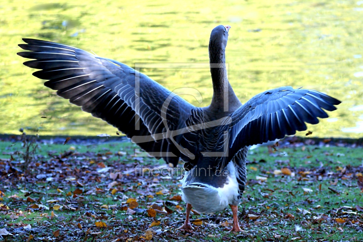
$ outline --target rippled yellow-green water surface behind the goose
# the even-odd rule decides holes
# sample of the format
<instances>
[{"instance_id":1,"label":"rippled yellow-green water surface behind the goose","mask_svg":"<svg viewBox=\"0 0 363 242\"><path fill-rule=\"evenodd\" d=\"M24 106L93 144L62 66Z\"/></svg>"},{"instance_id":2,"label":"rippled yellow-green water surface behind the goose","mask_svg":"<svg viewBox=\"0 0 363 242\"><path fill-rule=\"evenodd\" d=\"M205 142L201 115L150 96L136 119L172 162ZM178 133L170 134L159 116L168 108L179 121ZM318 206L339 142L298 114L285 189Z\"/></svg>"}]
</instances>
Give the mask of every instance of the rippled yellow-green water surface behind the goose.
<instances>
[{"instance_id":1,"label":"rippled yellow-green water surface behind the goose","mask_svg":"<svg viewBox=\"0 0 363 242\"><path fill-rule=\"evenodd\" d=\"M231 25L229 81L241 102L290 85L340 99L312 136L363 134L363 1L17 1L0 2L0 133L116 135L116 129L57 97L17 56L21 38L72 45L131 67L206 63L211 30ZM170 90L212 97L208 69L142 69ZM47 118L41 118L46 116ZM298 133L305 136L306 132Z\"/></svg>"}]
</instances>

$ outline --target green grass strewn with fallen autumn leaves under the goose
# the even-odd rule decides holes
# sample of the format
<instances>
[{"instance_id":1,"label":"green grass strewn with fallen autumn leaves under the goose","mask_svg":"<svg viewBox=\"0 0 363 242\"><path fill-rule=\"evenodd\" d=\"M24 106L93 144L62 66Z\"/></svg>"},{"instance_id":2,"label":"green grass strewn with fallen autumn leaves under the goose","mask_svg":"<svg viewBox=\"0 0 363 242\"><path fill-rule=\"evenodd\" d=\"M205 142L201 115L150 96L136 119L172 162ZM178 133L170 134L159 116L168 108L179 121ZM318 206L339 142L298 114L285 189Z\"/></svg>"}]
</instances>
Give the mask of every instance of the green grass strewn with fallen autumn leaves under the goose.
<instances>
[{"instance_id":1,"label":"green grass strewn with fallen autumn leaves under the goose","mask_svg":"<svg viewBox=\"0 0 363 242\"><path fill-rule=\"evenodd\" d=\"M136 165L169 171L162 160L128 141L39 145L22 175L21 143L0 142L0 229L13 234L5 241L363 241L362 147L305 140L272 154L253 149L244 231L228 233L225 209L192 212L188 234L176 230L185 218L180 175L135 173Z\"/></svg>"}]
</instances>

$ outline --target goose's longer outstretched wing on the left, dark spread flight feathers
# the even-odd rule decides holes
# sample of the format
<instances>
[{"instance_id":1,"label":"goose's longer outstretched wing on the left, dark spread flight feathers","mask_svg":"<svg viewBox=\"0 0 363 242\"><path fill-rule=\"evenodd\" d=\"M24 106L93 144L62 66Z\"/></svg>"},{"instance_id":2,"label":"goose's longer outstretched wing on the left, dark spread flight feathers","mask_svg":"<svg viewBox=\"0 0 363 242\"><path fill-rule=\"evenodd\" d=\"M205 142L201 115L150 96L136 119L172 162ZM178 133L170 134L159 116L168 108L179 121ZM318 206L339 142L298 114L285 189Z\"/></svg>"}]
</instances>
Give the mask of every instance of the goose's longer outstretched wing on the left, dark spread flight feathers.
<instances>
[{"instance_id":1,"label":"goose's longer outstretched wing on the left, dark spread flight feathers","mask_svg":"<svg viewBox=\"0 0 363 242\"><path fill-rule=\"evenodd\" d=\"M19 46L30 51L18 55L35 59L24 62L24 65L42 69L33 75L49 80L45 86L57 90L57 95L71 103L82 106L83 111L117 127L129 138L147 136L148 140L139 143L141 148L152 156L163 157L167 163L178 163L180 152L170 139L154 140L150 136L166 131L160 110L171 94L169 90L123 63L68 45L23 40L27 44ZM135 75L139 82L135 81ZM168 128L185 127L185 120L193 108L184 99L173 96L166 112ZM135 115L139 116L136 122Z\"/></svg>"}]
</instances>

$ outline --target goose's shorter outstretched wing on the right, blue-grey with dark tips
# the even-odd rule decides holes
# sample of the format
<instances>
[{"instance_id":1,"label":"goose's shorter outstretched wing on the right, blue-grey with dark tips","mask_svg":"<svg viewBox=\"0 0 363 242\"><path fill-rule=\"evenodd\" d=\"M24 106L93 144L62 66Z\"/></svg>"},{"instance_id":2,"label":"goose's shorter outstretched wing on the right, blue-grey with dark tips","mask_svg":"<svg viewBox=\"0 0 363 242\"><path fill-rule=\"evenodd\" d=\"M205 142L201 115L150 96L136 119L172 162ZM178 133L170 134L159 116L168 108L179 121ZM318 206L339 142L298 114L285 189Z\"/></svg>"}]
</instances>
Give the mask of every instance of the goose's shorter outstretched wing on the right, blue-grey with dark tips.
<instances>
[{"instance_id":1,"label":"goose's shorter outstretched wing on the right, blue-grey with dark tips","mask_svg":"<svg viewBox=\"0 0 363 242\"><path fill-rule=\"evenodd\" d=\"M306 130L306 123L327 118L339 100L314 90L279 87L257 94L231 116L231 145L234 154L244 146L282 139Z\"/></svg>"}]
</instances>

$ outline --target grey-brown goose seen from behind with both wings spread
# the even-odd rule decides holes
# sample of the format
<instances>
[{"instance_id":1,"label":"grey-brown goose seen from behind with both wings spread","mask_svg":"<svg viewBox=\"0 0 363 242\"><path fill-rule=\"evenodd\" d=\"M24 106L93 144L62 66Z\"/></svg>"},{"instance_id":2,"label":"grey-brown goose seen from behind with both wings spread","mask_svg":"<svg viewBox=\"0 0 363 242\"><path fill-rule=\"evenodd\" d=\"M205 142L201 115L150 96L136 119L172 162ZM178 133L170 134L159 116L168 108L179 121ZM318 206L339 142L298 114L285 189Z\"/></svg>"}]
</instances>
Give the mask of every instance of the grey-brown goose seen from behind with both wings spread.
<instances>
[{"instance_id":1,"label":"grey-brown goose seen from behind with both wings spread","mask_svg":"<svg viewBox=\"0 0 363 242\"><path fill-rule=\"evenodd\" d=\"M315 90L279 87L242 104L229 84L225 48L231 26L216 26L209 39L213 97L195 107L131 67L72 46L24 38L18 53L35 77L57 95L105 120L150 155L176 167L184 161L181 195L186 218L179 228L192 232L192 208L213 213L237 206L246 185L249 146L282 139L327 118L340 101ZM322 109L323 108L323 109Z\"/></svg>"}]
</instances>

